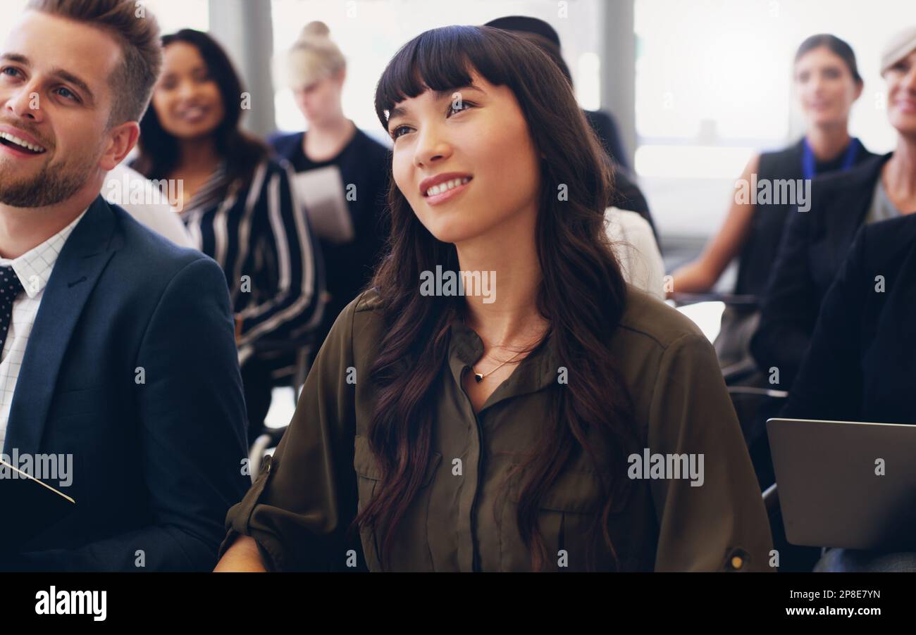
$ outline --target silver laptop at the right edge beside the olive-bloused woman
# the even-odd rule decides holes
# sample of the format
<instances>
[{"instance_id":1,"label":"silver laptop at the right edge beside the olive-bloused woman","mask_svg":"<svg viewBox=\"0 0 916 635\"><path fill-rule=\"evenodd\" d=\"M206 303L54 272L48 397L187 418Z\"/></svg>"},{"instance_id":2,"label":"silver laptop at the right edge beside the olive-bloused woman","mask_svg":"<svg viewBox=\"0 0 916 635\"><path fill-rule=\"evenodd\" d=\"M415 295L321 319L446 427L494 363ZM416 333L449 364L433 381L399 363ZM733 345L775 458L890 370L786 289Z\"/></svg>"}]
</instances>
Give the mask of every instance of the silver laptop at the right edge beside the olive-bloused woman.
<instances>
[{"instance_id":1,"label":"silver laptop at the right edge beside the olive-bloused woman","mask_svg":"<svg viewBox=\"0 0 916 635\"><path fill-rule=\"evenodd\" d=\"M767 434L791 544L916 550L916 425L769 419Z\"/></svg>"}]
</instances>

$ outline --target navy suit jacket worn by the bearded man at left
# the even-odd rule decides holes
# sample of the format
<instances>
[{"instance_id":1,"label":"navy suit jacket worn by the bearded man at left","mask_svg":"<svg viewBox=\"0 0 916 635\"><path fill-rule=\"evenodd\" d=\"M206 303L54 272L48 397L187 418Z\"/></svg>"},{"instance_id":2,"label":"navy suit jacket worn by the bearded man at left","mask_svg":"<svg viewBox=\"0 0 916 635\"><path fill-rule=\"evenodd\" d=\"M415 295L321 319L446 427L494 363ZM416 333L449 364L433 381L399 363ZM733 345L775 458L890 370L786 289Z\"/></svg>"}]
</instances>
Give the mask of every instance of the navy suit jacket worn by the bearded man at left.
<instances>
[{"instance_id":1,"label":"navy suit jacket worn by the bearded man at left","mask_svg":"<svg viewBox=\"0 0 916 635\"><path fill-rule=\"evenodd\" d=\"M98 197L45 287L3 448L71 455L71 485L49 484L75 511L38 528L13 566L213 568L225 513L251 484L245 426L222 269Z\"/></svg>"}]
</instances>

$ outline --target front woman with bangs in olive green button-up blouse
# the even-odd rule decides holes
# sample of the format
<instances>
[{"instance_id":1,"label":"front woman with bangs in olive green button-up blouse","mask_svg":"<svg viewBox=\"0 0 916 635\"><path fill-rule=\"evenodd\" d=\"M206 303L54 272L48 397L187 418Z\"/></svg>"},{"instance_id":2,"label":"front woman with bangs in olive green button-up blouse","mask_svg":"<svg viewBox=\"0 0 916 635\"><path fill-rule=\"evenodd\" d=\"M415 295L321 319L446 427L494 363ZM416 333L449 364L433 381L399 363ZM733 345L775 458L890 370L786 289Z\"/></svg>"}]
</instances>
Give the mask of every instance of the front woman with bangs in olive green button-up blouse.
<instances>
[{"instance_id":1,"label":"front woman with bangs in olive green button-up blouse","mask_svg":"<svg viewBox=\"0 0 916 635\"><path fill-rule=\"evenodd\" d=\"M388 64L376 112L389 253L230 510L217 570L768 570L712 347L623 282L606 164L551 59L433 29ZM431 293L457 271L495 285Z\"/></svg>"}]
</instances>

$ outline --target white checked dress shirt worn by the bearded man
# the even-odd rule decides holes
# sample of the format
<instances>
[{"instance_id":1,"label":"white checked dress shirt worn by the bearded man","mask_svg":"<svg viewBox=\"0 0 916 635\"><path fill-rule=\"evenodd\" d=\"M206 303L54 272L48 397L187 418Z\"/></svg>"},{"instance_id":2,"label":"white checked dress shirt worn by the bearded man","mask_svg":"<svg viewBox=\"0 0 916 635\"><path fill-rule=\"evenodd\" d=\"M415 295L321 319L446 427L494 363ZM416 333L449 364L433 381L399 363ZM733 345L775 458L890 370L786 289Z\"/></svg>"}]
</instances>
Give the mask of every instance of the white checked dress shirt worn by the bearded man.
<instances>
[{"instance_id":1,"label":"white checked dress shirt worn by the bearded man","mask_svg":"<svg viewBox=\"0 0 916 635\"><path fill-rule=\"evenodd\" d=\"M73 222L18 258L0 258L0 266L12 266L25 289L13 302L9 331L6 333L3 351L0 352L0 448L6 439L6 424L13 404L13 394L16 393L16 380L26 355L28 336L35 324L41 297L45 295L45 286L48 285L64 242L67 242L76 223L80 222L87 210L82 210L82 214Z\"/></svg>"}]
</instances>

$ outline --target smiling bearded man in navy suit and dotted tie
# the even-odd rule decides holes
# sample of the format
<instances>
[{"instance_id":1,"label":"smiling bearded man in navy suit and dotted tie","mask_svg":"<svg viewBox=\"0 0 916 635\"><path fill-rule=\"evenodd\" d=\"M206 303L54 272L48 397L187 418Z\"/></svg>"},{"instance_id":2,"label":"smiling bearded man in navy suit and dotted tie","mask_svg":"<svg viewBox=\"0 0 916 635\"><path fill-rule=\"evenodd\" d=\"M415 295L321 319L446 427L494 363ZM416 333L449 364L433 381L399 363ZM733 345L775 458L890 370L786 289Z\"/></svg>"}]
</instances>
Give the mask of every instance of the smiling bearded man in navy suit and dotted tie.
<instances>
[{"instance_id":1,"label":"smiling bearded man in navy suit and dotted tie","mask_svg":"<svg viewBox=\"0 0 916 635\"><path fill-rule=\"evenodd\" d=\"M76 501L6 566L211 569L250 485L222 270L99 195L160 63L132 0L32 0L0 50L0 435Z\"/></svg>"}]
</instances>

